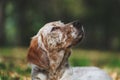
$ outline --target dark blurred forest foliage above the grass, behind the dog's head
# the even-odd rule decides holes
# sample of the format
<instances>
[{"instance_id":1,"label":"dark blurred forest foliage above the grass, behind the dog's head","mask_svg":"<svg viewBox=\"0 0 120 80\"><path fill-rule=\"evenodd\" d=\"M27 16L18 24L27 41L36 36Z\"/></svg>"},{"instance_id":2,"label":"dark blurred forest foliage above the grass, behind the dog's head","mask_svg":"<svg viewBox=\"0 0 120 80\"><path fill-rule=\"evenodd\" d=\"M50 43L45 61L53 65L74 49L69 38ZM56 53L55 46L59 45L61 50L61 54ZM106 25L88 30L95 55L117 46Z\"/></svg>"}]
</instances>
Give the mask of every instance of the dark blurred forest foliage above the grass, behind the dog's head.
<instances>
[{"instance_id":1,"label":"dark blurred forest foliage above the grass, behind the dog's head","mask_svg":"<svg viewBox=\"0 0 120 80\"><path fill-rule=\"evenodd\" d=\"M78 19L82 48L120 50L119 9L119 0L1 0L0 46L28 46L45 23Z\"/></svg>"}]
</instances>

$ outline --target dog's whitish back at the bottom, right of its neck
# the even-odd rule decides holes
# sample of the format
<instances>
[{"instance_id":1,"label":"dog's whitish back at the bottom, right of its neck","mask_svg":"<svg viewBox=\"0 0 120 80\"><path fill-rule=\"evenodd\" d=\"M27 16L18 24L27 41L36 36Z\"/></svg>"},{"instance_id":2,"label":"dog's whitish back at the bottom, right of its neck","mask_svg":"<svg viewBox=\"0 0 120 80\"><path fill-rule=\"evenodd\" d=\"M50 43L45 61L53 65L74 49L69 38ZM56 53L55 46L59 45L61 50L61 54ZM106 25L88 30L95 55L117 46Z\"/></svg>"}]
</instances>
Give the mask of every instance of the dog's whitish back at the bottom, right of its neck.
<instances>
[{"instance_id":1,"label":"dog's whitish back at the bottom, right of its neck","mask_svg":"<svg viewBox=\"0 0 120 80\"><path fill-rule=\"evenodd\" d=\"M97 67L73 67L66 69L60 80L112 80L110 76Z\"/></svg>"}]
</instances>

